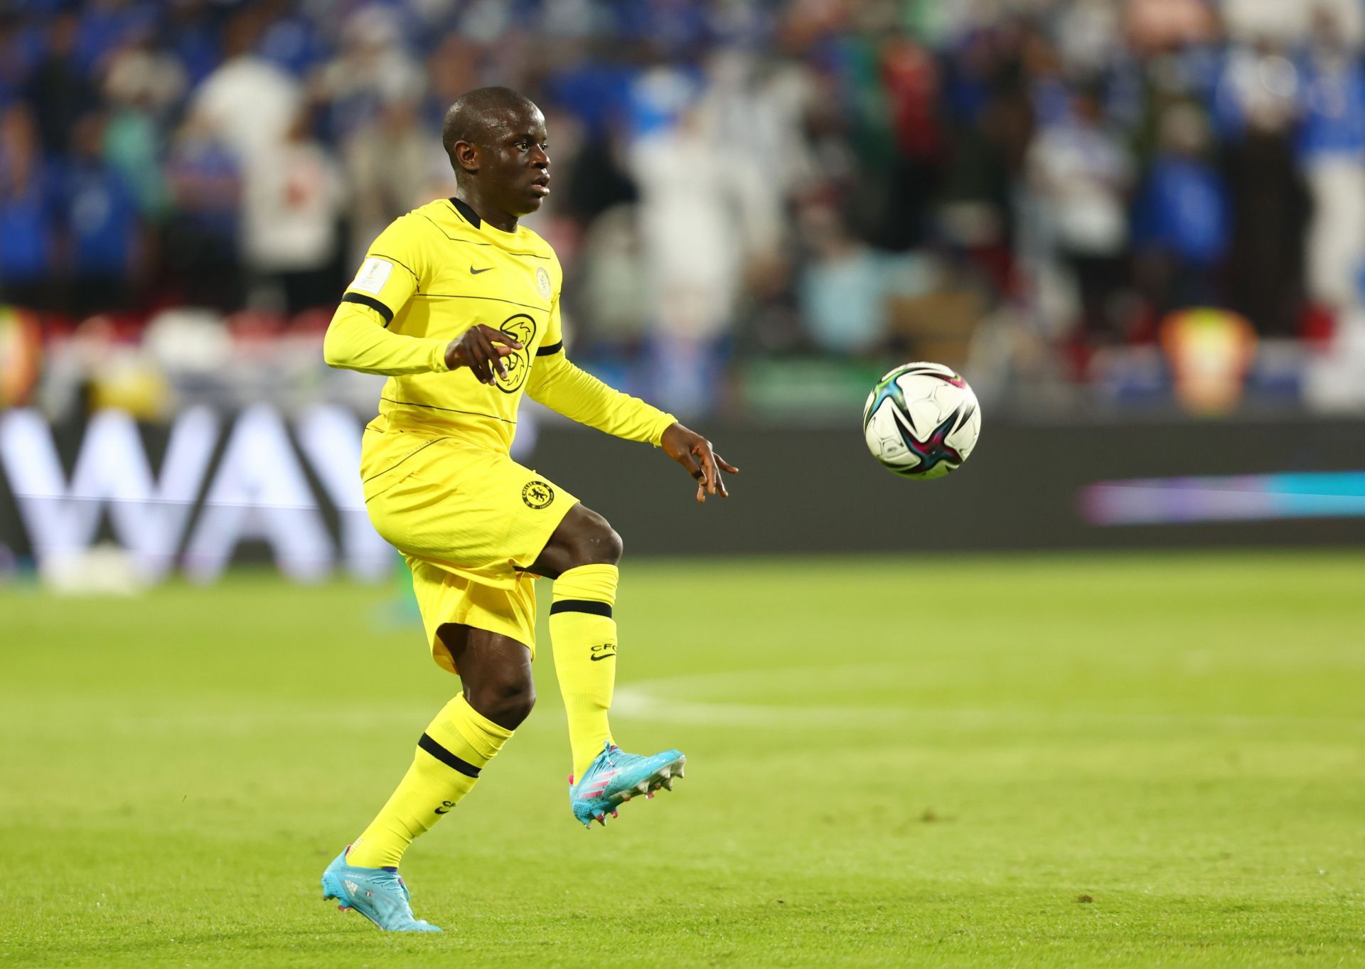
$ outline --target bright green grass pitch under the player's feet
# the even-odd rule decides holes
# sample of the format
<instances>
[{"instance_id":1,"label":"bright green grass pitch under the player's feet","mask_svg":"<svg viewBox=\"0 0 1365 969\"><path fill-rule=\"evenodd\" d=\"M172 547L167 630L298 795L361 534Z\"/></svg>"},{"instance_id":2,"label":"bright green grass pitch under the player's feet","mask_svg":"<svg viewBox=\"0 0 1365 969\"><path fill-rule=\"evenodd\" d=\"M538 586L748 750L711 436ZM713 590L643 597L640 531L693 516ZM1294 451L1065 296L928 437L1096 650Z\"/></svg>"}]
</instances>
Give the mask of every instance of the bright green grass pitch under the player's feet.
<instances>
[{"instance_id":1,"label":"bright green grass pitch under the player's feet","mask_svg":"<svg viewBox=\"0 0 1365 969\"><path fill-rule=\"evenodd\" d=\"M0 965L1365 965L1362 554L628 562L687 779L573 823L542 631L438 936L317 887L456 689L392 599L0 591Z\"/></svg>"}]
</instances>

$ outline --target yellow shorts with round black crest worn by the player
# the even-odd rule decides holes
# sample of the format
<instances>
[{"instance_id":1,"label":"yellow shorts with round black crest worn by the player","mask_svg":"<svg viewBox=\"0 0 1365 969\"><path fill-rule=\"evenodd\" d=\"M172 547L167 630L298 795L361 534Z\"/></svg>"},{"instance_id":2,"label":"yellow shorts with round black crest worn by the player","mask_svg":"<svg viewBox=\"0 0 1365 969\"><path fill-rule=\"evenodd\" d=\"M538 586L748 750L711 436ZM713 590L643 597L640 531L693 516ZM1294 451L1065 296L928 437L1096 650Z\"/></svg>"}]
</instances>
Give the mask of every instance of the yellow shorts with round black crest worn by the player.
<instances>
[{"instance_id":1,"label":"yellow shorts with round black crest worn by the player","mask_svg":"<svg viewBox=\"0 0 1365 969\"><path fill-rule=\"evenodd\" d=\"M434 431L366 427L360 476L370 521L404 554L431 658L455 673L448 622L526 643L535 656L528 568L577 504L508 454Z\"/></svg>"}]
</instances>

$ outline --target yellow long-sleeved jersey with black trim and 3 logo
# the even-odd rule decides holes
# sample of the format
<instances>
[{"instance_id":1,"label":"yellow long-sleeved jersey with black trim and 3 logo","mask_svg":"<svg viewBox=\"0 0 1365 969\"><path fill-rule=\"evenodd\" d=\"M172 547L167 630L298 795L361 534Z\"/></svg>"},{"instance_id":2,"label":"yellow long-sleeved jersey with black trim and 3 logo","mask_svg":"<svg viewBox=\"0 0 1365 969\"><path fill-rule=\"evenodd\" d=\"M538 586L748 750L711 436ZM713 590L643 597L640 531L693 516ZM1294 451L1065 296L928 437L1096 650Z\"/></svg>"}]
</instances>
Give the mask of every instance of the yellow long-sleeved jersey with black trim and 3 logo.
<instances>
[{"instance_id":1,"label":"yellow long-sleeved jersey with black trim and 3 logo","mask_svg":"<svg viewBox=\"0 0 1365 969\"><path fill-rule=\"evenodd\" d=\"M370 246L324 343L333 367L388 374L379 416L393 427L453 435L506 453L523 393L568 418L659 444L673 415L569 363L560 322L564 270L541 236L497 229L460 199L394 220ZM450 373L445 348L470 326L515 336L508 375L480 384Z\"/></svg>"}]
</instances>

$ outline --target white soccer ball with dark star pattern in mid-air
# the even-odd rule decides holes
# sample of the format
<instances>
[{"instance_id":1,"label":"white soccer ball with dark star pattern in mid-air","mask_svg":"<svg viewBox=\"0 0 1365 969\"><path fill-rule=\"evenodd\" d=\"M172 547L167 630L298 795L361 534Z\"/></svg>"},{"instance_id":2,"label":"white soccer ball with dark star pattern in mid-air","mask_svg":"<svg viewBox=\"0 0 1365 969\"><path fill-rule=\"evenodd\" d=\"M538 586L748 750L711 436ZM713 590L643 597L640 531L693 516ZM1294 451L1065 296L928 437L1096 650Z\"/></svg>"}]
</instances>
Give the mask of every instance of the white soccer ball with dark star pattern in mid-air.
<instances>
[{"instance_id":1,"label":"white soccer ball with dark star pattern in mid-air","mask_svg":"<svg viewBox=\"0 0 1365 969\"><path fill-rule=\"evenodd\" d=\"M867 449L902 478L942 478L981 434L981 407L942 363L905 363L886 374L863 407Z\"/></svg>"}]
</instances>

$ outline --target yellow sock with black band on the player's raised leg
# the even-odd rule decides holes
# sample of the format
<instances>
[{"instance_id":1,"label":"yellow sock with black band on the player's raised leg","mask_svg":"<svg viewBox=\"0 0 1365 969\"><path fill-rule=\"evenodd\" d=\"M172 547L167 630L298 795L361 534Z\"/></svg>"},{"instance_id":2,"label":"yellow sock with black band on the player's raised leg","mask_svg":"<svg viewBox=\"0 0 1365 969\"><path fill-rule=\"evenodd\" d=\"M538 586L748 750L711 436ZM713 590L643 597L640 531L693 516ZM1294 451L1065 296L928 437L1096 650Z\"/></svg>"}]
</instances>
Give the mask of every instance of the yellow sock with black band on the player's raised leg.
<instances>
[{"instance_id":1,"label":"yellow sock with black band on the player's raised leg","mask_svg":"<svg viewBox=\"0 0 1365 969\"><path fill-rule=\"evenodd\" d=\"M618 572L614 565L579 565L554 580L550 605L550 643L560 678L564 710L569 715L573 777L612 740L606 712L616 686L616 603Z\"/></svg>"}]
</instances>

